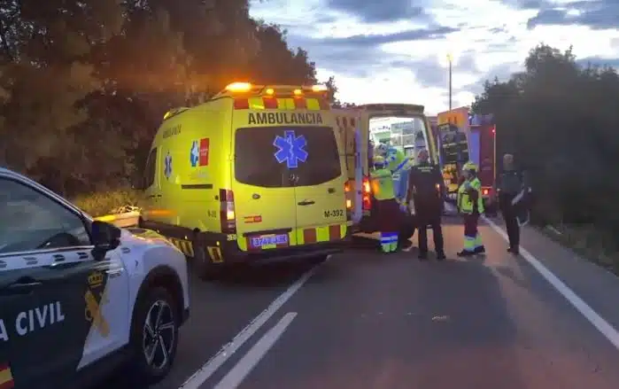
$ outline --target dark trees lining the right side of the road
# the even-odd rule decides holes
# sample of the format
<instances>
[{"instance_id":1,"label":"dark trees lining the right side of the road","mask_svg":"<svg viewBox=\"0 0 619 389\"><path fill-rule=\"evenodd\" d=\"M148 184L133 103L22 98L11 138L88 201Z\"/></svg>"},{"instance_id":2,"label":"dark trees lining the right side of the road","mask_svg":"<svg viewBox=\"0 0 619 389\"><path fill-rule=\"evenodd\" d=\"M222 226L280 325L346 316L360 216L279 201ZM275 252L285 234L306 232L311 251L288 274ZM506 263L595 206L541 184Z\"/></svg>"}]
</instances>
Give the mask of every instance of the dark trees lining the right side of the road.
<instances>
[{"instance_id":1,"label":"dark trees lining the right side of the road","mask_svg":"<svg viewBox=\"0 0 619 389\"><path fill-rule=\"evenodd\" d=\"M486 82L472 109L494 114L499 158L512 152L528 170L538 222L591 223L616 237L617 102L616 69L540 44L522 73Z\"/></svg>"}]
</instances>

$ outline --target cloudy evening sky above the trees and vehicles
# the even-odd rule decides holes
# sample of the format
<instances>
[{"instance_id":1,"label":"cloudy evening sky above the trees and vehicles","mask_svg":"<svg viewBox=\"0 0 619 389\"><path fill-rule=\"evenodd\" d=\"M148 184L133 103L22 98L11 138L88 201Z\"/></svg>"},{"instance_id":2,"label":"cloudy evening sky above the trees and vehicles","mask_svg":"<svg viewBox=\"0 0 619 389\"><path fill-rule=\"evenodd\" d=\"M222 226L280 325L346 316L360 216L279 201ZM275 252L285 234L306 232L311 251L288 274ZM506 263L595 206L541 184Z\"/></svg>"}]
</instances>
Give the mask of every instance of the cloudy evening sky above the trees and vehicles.
<instances>
[{"instance_id":1,"label":"cloudy evening sky above the trees and vehicles","mask_svg":"<svg viewBox=\"0 0 619 389\"><path fill-rule=\"evenodd\" d=\"M619 67L619 0L254 0L251 16L285 28L348 103L446 111L448 54L453 107L522 70L538 43Z\"/></svg>"}]
</instances>

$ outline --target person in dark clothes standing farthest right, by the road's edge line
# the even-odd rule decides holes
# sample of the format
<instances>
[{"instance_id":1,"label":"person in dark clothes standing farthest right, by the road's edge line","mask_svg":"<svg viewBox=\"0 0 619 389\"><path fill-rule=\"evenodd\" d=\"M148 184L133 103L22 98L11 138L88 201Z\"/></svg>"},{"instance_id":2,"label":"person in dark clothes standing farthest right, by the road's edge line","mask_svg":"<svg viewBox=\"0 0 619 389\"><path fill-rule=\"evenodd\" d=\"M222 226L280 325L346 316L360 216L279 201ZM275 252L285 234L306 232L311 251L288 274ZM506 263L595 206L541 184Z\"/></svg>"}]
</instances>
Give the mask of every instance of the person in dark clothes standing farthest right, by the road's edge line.
<instances>
[{"instance_id":1,"label":"person in dark clothes standing farthest right, by the road's edge line","mask_svg":"<svg viewBox=\"0 0 619 389\"><path fill-rule=\"evenodd\" d=\"M509 237L508 253L520 253L520 225L518 214L522 208L525 183L521 172L515 169L514 155L503 156L503 171L497 177L497 193L499 208L505 220L507 237Z\"/></svg>"}]
</instances>

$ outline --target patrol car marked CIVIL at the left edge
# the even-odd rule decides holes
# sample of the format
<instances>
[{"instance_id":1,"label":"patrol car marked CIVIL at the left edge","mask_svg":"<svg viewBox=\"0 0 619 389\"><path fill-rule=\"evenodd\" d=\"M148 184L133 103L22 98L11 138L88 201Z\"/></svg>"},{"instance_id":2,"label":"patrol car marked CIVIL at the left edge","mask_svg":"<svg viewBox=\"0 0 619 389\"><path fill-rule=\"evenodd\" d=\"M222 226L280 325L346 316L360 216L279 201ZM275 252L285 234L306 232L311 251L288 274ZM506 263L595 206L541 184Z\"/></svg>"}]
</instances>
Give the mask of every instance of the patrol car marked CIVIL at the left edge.
<instances>
[{"instance_id":1,"label":"patrol car marked CIVIL at the left edge","mask_svg":"<svg viewBox=\"0 0 619 389\"><path fill-rule=\"evenodd\" d=\"M0 167L0 387L78 388L120 367L159 381L189 307L187 262L164 237Z\"/></svg>"}]
</instances>

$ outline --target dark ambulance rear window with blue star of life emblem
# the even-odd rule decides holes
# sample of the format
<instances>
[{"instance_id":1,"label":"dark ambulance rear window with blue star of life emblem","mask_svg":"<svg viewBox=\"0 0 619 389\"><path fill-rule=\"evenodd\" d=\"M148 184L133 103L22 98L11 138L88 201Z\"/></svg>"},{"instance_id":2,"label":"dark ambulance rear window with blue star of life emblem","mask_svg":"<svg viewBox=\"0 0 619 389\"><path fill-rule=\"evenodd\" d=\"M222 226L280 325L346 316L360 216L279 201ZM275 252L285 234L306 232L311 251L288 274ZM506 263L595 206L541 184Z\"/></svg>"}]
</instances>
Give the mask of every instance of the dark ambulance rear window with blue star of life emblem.
<instances>
[{"instance_id":1,"label":"dark ambulance rear window with blue star of life emblem","mask_svg":"<svg viewBox=\"0 0 619 389\"><path fill-rule=\"evenodd\" d=\"M327 183L342 175L333 128L239 128L235 177L239 183L280 188Z\"/></svg>"}]
</instances>

